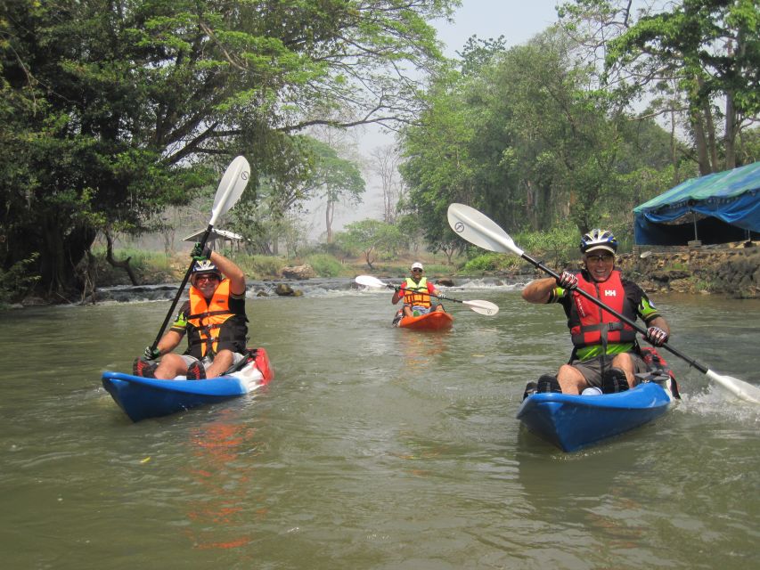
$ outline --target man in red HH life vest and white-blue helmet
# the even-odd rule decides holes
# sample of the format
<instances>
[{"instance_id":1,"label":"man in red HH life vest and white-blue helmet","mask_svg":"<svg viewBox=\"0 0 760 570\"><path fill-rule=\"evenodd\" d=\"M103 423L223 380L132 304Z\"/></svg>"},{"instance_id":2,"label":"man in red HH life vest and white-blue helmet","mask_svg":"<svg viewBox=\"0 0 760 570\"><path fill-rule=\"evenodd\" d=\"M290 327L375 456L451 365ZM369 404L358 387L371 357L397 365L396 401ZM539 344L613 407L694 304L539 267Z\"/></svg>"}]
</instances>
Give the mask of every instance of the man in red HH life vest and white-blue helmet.
<instances>
[{"instance_id":1,"label":"man in red HH life vest and white-blue helmet","mask_svg":"<svg viewBox=\"0 0 760 570\"><path fill-rule=\"evenodd\" d=\"M537 392L580 394L586 387L602 392L622 392L634 386L634 374L647 370L640 356L636 331L599 305L574 291L583 288L631 321L641 317L646 323L647 340L662 346L670 335L665 318L646 293L615 269L617 240L612 232L592 230L581 239L584 269L563 272L560 279L537 279L527 284L522 297L528 303L559 303L568 316L573 353L556 378L542 376ZM530 388L527 389L527 392Z\"/></svg>"}]
</instances>

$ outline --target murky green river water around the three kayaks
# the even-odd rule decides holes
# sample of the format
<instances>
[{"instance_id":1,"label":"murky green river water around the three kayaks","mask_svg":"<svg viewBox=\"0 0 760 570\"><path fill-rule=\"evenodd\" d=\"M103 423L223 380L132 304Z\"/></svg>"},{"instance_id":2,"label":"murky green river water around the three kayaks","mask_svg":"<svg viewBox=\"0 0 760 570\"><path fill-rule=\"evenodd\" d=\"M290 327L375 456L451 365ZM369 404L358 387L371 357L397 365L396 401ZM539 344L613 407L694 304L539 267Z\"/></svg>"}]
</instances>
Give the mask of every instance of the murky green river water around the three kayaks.
<instances>
[{"instance_id":1,"label":"murky green river water around the three kayaks","mask_svg":"<svg viewBox=\"0 0 760 570\"><path fill-rule=\"evenodd\" d=\"M132 423L101 385L167 300L7 311L0 396L3 568L760 567L760 406L663 352L683 400L563 453L515 419L569 353L559 306L519 285L450 293L454 329L390 326L347 280L254 297L255 396ZM760 384L760 302L657 297L673 344Z\"/></svg>"}]
</instances>

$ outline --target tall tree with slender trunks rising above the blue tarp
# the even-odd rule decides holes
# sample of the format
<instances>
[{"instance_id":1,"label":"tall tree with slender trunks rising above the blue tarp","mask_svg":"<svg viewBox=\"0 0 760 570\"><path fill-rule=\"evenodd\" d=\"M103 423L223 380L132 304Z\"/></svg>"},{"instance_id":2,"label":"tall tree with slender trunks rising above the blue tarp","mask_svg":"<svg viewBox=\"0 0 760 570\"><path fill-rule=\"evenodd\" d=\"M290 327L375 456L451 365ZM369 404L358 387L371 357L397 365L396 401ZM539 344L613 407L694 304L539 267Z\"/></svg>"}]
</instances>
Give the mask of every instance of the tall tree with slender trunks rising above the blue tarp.
<instances>
[{"instance_id":1,"label":"tall tree with slender trunks rising above the blue tarp","mask_svg":"<svg viewBox=\"0 0 760 570\"><path fill-rule=\"evenodd\" d=\"M576 0L560 15L606 52L608 84L628 102L648 96L645 114L670 120L674 135L682 122L700 174L735 167L737 137L760 112L760 4L683 0L638 14L631 7Z\"/></svg>"}]
</instances>

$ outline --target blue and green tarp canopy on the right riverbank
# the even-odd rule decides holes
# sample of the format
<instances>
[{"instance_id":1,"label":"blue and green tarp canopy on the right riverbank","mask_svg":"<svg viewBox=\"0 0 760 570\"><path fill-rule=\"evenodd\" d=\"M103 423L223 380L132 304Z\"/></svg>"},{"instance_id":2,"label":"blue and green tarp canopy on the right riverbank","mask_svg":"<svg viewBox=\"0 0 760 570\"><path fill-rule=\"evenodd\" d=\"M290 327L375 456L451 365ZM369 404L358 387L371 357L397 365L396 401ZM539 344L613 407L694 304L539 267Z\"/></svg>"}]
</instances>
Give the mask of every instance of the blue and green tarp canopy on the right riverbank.
<instances>
[{"instance_id":1,"label":"blue and green tarp canopy on the right riverbank","mask_svg":"<svg viewBox=\"0 0 760 570\"><path fill-rule=\"evenodd\" d=\"M753 234L757 234L753 236ZM686 245L760 235L760 162L691 178L633 208L639 245Z\"/></svg>"}]
</instances>

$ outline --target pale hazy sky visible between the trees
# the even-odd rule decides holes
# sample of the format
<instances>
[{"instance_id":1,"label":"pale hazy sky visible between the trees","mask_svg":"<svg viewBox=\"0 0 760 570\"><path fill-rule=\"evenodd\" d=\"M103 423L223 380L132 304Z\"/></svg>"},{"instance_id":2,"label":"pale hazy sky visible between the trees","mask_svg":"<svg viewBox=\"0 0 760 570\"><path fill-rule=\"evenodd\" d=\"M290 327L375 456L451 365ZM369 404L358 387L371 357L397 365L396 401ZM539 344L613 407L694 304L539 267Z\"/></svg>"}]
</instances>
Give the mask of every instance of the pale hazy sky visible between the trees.
<instances>
[{"instance_id":1,"label":"pale hazy sky visible between the trees","mask_svg":"<svg viewBox=\"0 0 760 570\"><path fill-rule=\"evenodd\" d=\"M479 39L504 36L507 45L525 44L557 20L556 4L557 0L463 0L452 23L440 20L434 25L438 38L445 44L445 55L454 58L473 35ZM389 135L370 130L363 136L360 148L369 156L372 149L392 142ZM317 236L324 232L324 207L313 202L308 209L314 224L313 235ZM364 202L359 208L338 205L332 229L339 231L343 224L366 217L382 217L382 198L377 181L367 180Z\"/></svg>"}]
</instances>

